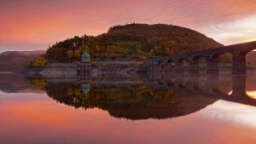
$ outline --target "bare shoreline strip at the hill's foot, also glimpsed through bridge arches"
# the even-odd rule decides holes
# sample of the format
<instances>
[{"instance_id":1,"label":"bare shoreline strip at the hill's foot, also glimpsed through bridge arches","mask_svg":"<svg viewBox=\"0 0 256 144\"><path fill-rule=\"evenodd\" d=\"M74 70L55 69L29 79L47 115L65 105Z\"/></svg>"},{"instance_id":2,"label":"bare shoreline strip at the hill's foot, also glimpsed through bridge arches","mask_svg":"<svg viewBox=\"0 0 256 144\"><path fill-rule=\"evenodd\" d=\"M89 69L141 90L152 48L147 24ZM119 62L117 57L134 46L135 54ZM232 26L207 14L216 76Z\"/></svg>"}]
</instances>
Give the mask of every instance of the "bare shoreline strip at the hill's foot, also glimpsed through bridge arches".
<instances>
[{"instance_id":1,"label":"bare shoreline strip at the hill's foot, also glimpsed through bridge arches","mask_svg":"<svg viewBox=\"0 0 256 144\"><path fill-rule=\"evenodd\" d=\"M137 75L137 70L139 70L138 63L139 62L128 62L132 63L132 65L125 65L127 62L96 62L92 63L91 67L91 75L93 77L101 77L105 75L119 75L125 77L132 77ZM106 65L107 64L107 65ZM112 65L111 65L112 64ZM137 65L136 65L137 64ZM9 74L9 73L20 73L24 74L28 77L42 77L42 78L77 78L79 75L77 74L77 64L75 63L53 63L48 66L38 67L38 68L30 68L23 70L15 70L15 71L0 71L0 74ZM204 70L199 71L199 73L204 73ZM219 68L219 73L231 73L232 68ZM247 73L256 72L255 68L247 68ZM138 72L138 73L147 73L147 72ZM170 73L170 72L166 72ZM175 73L175 72L172 72ZM184 73L188 73L184 71Z\"/></svg>"}]
</instances>

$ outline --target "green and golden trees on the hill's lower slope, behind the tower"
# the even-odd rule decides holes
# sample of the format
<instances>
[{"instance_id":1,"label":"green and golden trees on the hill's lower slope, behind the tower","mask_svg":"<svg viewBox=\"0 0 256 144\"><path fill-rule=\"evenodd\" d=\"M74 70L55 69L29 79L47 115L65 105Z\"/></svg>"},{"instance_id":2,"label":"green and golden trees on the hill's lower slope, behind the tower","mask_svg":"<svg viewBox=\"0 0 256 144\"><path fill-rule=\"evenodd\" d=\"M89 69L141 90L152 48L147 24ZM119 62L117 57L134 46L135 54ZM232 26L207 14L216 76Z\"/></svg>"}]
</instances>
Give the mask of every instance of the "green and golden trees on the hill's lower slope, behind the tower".
<instances>
[{"instance_id":1,"label":"green and golden trees on the hill's lower slope, behind the tower","mask_svg":"<svg viewBox=\"0 0 256 144\"><path fill-rule=\"evenodd\" d=\"M97 57L131 57L135 60L147 60L154 56L167 55L163 45L160 48L157 47L159 42L148 42L143 38L137 37L133 40L120 35L113 37L108 34L98 37L75 36L51 46L45 54L45 59L49 62L73 62L80 60L84 52L87 52L92 60Z\"/></svg>"}]
</instances>

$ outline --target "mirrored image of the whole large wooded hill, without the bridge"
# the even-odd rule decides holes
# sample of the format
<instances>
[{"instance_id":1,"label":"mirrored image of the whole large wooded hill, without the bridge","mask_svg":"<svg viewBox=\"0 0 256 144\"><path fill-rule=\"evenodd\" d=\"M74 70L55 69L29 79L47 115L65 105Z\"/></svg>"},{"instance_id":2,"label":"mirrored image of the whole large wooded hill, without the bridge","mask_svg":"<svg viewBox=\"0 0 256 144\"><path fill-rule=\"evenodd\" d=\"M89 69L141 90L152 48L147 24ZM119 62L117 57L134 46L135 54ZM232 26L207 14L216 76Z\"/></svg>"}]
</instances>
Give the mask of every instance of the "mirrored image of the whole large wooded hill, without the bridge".
<instances>
[{"instance_id":1,"label":"mirrored image of the whole large wooded hill, without the bridge","mask_svg":"<svg viewBox=\"0 0 256 144\"><path fill-rule=\"evenodd\" d=\"M84 94L79 84L50 83L45 87L55 101L84 109L98 107L116 118L172 118L196 112L215 99L199 95L183 95L173 90L150 89L144 84L130 88L91 86Z\"/></svg>"}]
</instances>

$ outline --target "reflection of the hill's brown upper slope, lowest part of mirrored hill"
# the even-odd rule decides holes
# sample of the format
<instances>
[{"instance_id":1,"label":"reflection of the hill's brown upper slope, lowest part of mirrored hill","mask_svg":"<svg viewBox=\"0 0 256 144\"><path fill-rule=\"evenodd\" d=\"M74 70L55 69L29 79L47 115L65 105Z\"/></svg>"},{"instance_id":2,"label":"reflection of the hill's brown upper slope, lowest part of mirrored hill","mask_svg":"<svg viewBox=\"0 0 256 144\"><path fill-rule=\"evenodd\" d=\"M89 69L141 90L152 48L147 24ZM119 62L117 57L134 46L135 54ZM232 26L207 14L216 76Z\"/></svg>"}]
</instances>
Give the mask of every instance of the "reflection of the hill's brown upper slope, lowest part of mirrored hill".
<instances>
[{"instance_id":1,"label":"reflection of the hill's brown upper slope, lowest part of mirrored hill","mask_svg":"<svg viewBox=\"0 0 256 144\"><path fill-rule=\"evenodd\" d=\"M181 96L181 97L179 97ZM183 94L168 95L166 100L155 101L153 106L122 103L109 107L110 115L117 118L147 119L147 118L172 118L183 116L201 110L215 100L203 96L191 96ZM161 101L166 101L161 103ZM200 101L200 103L198 103ZM160 102L160 103L159 103Z\"/></svg>"}]
</instances>

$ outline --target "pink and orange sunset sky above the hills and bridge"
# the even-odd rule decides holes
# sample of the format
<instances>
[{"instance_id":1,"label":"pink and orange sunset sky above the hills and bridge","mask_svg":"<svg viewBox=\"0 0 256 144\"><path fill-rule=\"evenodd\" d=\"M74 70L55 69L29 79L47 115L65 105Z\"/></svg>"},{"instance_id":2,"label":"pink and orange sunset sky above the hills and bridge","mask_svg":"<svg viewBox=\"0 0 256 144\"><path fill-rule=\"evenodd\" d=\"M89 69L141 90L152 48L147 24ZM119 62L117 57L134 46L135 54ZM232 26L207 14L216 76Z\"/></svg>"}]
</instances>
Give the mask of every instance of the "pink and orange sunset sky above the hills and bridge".
<instances>
[{"instance_id":1,"label":"pink and orange sunset sky above the hills and bridge","mask_svg":"<svg viewBox=\"0 0 256 144\"><path fill-rule=\"evenodd\" d=\"M224 45L256 40L255 0L1 0L0 52L47 49L128 23L183 26Z\"/></svg>"}]
</instances>

